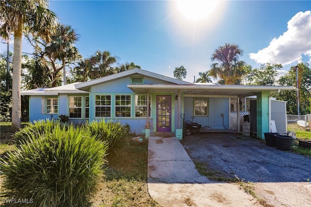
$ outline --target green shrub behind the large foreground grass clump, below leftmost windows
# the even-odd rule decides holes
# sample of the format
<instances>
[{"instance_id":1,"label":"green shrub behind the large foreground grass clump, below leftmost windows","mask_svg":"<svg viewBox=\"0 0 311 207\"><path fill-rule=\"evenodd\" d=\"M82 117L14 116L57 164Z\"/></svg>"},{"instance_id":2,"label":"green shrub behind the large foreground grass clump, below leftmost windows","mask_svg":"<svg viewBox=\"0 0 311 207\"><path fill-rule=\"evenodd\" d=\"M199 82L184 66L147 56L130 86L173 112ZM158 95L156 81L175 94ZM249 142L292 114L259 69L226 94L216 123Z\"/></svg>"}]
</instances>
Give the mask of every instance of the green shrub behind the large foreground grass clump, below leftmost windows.
<instances>
[{"instance_id":1,"label":"green shrub behind the large foreground grass clump, below leftmost windows","mask_svg":"<svg viewBox=\"0 0 311 207\"><path fill-rule=\"evenodd\" d=\"M29 123L14 134L14 140L24 143L30 136L39 138L42 134L51 132L55 127L68 126L58 120L39 120Z\"/></svg>"}]
</instances>

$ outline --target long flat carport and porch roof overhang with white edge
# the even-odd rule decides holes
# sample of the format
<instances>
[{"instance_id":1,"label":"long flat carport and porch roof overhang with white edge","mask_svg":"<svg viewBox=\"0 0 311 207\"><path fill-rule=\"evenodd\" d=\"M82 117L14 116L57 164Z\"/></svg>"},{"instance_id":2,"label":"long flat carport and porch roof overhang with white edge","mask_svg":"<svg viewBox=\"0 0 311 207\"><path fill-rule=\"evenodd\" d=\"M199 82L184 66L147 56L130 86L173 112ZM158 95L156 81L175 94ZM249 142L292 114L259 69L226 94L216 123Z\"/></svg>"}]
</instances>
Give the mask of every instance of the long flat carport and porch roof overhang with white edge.
<instances>
[{"instance_id":1,"label":"long flat carport and porch roof overhang with white edge","mask_svg":"<svg viewBox=\"0 0 311 207\"><path fill-rule=\"evenodd\" d=\"M255 86L255 85L156 85L156 84L128 84L128 88L136 93L176 93L184 96L223 96L246 97L255 96L258 92L276 93L281 91L297 90L294 86Z\"/></svg>"}]
</instances>

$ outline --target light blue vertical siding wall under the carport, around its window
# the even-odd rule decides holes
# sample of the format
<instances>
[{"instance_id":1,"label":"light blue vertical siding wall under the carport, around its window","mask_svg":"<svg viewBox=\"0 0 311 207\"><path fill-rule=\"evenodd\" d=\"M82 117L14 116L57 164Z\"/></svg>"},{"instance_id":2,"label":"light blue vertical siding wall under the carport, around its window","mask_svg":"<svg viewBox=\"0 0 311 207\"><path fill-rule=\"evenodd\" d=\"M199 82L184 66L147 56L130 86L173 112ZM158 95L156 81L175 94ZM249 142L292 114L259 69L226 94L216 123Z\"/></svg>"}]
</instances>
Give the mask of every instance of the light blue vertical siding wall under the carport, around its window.
<instances>
[{"instance_id":1,"label":"light blue vertical siding wall under the carport, around its window","mask_svg":"<svg viewBox=\"0 0 311 207\"><path fill-rule=\"evenodd\" d=\"M194 97L184 98L185 121L190 120L194 116L193 111ZM224 114L224 117L221 114ZM213 129L229 128L229 98L208 98L208 116L195 116L193 122L202 125L202 127L210 126Z\"/></svg>"}]
</instances>

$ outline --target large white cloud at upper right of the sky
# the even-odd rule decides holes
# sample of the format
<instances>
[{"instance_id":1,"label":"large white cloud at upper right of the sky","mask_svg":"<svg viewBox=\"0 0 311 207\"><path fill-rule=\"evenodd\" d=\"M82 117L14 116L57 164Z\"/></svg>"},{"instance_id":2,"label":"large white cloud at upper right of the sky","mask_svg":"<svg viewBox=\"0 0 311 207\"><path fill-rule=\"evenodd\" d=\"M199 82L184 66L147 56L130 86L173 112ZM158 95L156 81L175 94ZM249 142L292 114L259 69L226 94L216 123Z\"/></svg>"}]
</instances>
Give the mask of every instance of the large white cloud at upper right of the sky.
<instances>
[{"instance_id":1,"label":"large white cloud at upper right of the sky","mask_svg":"<svg viewBox=\"0 0 311 207\"><path fill-rule=\"evenodd\" d=\"M257 63L291 64L302 55L311 58L311 11L297 13L287 23L287 31L274 38L267 48L249 56Z\"/></svg>"}]
</instances>

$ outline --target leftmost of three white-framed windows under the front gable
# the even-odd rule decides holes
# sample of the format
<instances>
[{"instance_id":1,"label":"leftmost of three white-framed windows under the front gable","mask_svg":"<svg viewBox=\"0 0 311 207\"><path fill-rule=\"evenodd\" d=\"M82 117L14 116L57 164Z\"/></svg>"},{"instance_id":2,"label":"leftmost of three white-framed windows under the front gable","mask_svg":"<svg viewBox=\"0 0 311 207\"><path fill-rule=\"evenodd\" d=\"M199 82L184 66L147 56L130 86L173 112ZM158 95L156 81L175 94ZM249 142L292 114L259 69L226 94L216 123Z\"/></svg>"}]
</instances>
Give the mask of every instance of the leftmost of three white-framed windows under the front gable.
<instances>
[{"instance_id":1,"label":"leftmost of three white-framed windows under the front gable","mask_svg":"<svg viewBox=\"0 0 311 207\"><path fill-rule=\"evenodd\" d=\"M95 117L111 117L111 95L95 95Z\"/></svg>"}]
</instances>

